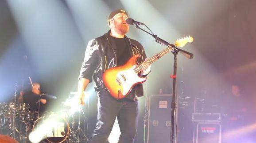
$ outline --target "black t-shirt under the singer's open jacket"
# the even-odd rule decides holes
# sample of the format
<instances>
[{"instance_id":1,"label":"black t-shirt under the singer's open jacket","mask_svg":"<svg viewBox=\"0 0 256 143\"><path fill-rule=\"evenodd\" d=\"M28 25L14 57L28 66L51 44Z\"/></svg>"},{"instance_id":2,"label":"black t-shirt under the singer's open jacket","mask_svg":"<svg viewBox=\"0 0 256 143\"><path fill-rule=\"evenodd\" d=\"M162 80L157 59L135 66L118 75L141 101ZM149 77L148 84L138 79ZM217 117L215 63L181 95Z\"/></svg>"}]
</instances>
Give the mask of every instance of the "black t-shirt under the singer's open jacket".
<instances>
[{"instance_id":1,"label":"black t-shirt under the singer's open jacket","mask_svg":"<svg viewBox=\"0 0 256 143\"><path fill-rule=\"evenodd\" d=\"M131 57L128 44L124 38L112 37L112 40L116 44L116 66L123 66Z\"/></svg>"}]
</instances>

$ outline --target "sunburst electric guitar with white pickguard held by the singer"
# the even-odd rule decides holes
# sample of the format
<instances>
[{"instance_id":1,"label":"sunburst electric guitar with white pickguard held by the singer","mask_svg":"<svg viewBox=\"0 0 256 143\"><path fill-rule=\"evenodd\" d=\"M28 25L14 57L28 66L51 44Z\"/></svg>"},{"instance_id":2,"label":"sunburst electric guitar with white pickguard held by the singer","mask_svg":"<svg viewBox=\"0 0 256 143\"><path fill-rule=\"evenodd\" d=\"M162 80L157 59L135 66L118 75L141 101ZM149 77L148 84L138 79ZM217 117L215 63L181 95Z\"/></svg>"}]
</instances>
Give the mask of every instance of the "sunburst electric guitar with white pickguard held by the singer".
<instances>
[{"instance_id":1,"label":"sunburst electric guitar with white pickguard held by the singer","mask_svg":"<svg viewBox=\"0 0 256 143\"><path fill-rule=\"evenodd\" d=\"M193 37L188 36L177 39L175 41L175 47L183 47L188 42L193 42ZM144 62L150 65L172 50L172 48L168 47ZM140 77L138 74L142 71L141 64L136 65L136 59L139 56L140 55L134 55L123 66L110 68L103 73L103 84L109 90L110 95L115 99L125 98L136 84L143 83L147 80L147 77Z\"/></svg>"}]
</instances>

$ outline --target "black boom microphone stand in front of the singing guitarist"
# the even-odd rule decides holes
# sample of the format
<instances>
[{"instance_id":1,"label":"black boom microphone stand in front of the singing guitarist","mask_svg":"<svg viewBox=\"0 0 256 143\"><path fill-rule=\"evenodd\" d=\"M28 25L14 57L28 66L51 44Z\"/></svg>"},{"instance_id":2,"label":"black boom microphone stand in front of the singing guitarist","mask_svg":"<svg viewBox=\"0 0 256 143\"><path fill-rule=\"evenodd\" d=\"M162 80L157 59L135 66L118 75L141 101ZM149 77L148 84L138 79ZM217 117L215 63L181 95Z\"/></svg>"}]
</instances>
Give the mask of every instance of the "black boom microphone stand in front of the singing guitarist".
<instances>
[{"instance_id":1,"label":"black boom microphone stand in front of the singing guitarist","mask_svg":"<svg viewBox=\"0 0 256 143\"><path fill-rule=\"evenodd\" d=\"M141 29L138 24L136 24L136 28ZM145 25L146 26L146 25ZM147 27L147 26L146 26ZM147 29L149 29L147 27ZM155 42L159 43L159 44L163 44L168 46L169 48L172 49L172 54L174 55L174 70L173 70L173 75L171 75L171 78L173 79L173 89L172 89L172 102L171 102L171 143L174 143L174 120L175 120L175 110L176 110L176 102L175 102L175 97L176 97L176 74L177 74L177 55L178 52L181 52L182 55L184 55L186 58L188 59L192 59L193 58L193 54L188 52L188 51L184 51L180 48L177 48L174 44L169 44L167 41L157 37L154 33L149 33L144 29L141 29L142 31L148 33L149 35L151 35L152 37L155 38ZM176 131L177 133L177 131Z\"/></svg>"}]
</instances>

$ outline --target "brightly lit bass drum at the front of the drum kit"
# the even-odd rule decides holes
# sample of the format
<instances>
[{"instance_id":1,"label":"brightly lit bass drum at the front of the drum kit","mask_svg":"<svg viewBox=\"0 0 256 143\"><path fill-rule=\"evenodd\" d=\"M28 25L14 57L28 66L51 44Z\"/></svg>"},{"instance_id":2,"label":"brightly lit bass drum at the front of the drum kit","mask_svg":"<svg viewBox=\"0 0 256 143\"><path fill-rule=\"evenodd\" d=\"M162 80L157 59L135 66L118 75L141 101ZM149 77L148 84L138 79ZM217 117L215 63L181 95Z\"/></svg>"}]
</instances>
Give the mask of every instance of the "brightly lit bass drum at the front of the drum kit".
<instances>
[{"instance_id":1,"label":"brightly lit bass drum at the front of the drum kit","mask_svg":"<svg viewBox=\"0 0 256 143\"><path fill-rule=\"evenodd\" d=\"M35 121L32 130L46 130L41 134L45 135L44 142L47 143L62 143L70 133L70 126L65 118L58 115L50 115L49 117L40 117ZM38 130L37 130L38 129Z\"/></svg>"}]
</instances>

